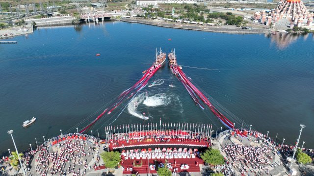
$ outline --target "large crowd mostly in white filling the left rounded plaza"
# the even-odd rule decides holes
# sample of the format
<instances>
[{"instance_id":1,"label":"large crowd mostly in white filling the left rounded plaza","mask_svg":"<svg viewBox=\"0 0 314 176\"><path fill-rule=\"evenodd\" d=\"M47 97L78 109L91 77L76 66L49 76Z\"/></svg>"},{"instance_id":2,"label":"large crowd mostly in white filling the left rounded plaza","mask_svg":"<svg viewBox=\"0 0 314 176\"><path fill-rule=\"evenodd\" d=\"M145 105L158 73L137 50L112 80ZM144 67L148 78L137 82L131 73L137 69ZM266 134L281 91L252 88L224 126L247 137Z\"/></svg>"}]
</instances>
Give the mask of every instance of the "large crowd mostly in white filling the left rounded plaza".
<instances>
[{"instance_id":1,"label":"large crowd mostly in white filling the left rounded plaza","mask_svg":"<svg viewBox=\"0 0 314 176\"><path fill-rule=\"evenodd\" d=\"M69 134L70 135L70 134ZM64 136L62 136L64 137ZM86 137L86 136L85 136ZM67 175L83 176L88 168L88 159L99 157L98 139L87 136L87 140L69 138L60 142L55 151L52 148L39 148L35 158L35 170L40 176ZM54 139L55 141L57 139ZM91 167L89 167L90 169Z\"/></svg>"}]
</instances>

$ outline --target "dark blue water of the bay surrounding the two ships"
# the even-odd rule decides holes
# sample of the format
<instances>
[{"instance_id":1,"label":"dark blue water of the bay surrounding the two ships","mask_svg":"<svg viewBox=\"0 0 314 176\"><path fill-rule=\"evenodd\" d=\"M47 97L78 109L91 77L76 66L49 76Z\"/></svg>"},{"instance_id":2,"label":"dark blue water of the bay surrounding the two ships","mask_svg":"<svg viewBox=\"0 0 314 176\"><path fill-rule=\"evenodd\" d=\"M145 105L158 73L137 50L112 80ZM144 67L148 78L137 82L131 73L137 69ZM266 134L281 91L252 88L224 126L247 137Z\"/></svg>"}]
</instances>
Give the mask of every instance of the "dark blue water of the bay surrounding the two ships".
<instances>
[{"instance_id":1,"label":"dark blue water of the bay surrounding the two ships","mask_svg":"<svg viewBox=\"0 0 314 176\"><path fill-rule=\"evenodd\" d=\"M10 40L18 44L0 45L0 155L13 150L7 134L11 129L23 151L29 144L35 146L35 137L40 144L43 136L58 135L60 129L64 133L83 128L141 78L154 62L156 47L167 53L175 48L183 72L219 103L236 128L243 120L246 128L251 124L271 137L278 133L278 141L286 138L285 143L294 144L299 124L305 124L301 141L314 148L313 34L236 35L104 22L38 28ZM161 118L167 123L222 127L209 110L195 106L167 65L150 83L154 80L164 83L139 92L136 98L143 101L138 100L136 110L126 101L102 118L91 129L94 134L99 130L104 136L104 127L124 108L113 125ZM168 86L171 83L175 88ZM145 102L145 91L150 101ZM143 121L134 112L145 112L150 119ZM22 128L32 116L36 123Z\"/></svg>"}]
</instances>

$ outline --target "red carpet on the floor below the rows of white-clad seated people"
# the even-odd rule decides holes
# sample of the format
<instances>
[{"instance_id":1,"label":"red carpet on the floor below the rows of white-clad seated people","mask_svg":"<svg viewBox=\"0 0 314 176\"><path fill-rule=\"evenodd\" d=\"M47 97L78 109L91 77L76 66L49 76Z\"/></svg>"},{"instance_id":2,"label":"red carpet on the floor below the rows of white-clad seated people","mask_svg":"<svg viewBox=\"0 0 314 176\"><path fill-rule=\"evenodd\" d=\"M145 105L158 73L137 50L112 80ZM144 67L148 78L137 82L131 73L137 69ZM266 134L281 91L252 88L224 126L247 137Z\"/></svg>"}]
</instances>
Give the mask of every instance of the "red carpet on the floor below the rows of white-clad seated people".
<instances>
[{"instance_id":1,"label":"red carpet on the floor below the rows of white-clad seated people","mask_svg":"<svg viewBox=\"0 0 314 176\"><path fill-rule=\"evenodd\" d=\"M121 165L124 167L124 172L123 174L131 174L131 171L127 171L127 167L132 167L133 168L133 173L136 173L136 171L139 173L139 174L148 174L148 170L149 170L149 164L148 164L148 159L143 159L142 162L143 162L143 165L142 167L133 167L133 161L140 161L140 159L128 159L128 160L123 160L123 164L121 162ZM175 167L175 160L177 160L177 165ZM150 163L154 163L155 160L153 159L150 159L149 160ZM164 163L165 162L165 159L157 159L158 162L162 162ZM168 163L171 163L171 166L173 166L173 169L175 168L178 168L178 172L201 172L200 171L200 167L199 166L196 166L196 162L198 162L199 164L203 164L204 161L198 157L195 157L195 158L176 158L176 159L169 159L168 160ZM189 169L188 170L181 170L180 169L180 166L181 164L187 164L189 165ZM172 170L173 171L173 170ZM150 173L157 173L156 171L152 171L150 170Z\"/></svg>"}]
</instances>

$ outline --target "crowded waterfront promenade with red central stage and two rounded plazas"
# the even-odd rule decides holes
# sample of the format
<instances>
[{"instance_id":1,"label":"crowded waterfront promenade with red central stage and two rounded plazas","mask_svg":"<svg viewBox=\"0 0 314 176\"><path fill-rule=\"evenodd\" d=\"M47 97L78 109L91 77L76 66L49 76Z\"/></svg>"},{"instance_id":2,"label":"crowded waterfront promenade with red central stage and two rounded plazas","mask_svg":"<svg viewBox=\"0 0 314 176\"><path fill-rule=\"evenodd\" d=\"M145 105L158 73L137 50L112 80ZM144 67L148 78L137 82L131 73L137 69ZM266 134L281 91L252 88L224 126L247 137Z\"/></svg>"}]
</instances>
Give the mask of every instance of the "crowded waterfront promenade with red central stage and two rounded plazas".
<instances>
[{"instance_id":1,"label":"crowded waterfront promenade with red central stage and two rounded plazas","mask_svg":"<svg viewBox=\"0 0 314 176\"><path fill-rule=\"evenodd\" d=\"M121 129L120 129L121 131ZM114 175L156 174L167 167L174 175L192 176L222 172L225 176L288 176L285 149L256 131L226 130L210 139L208 130L143 130L108 132L107 139L69 133L48 139L38 148L27 151L23 165L28 176L100 176L108 173L100 154L119 151L121 162ZM206 166L200 155L209 147L218 149L224 165ZM278 150L279 149L279 150ZM312 151L312 150L311 150ZM8 175L17 173L6 167ZM311 176L314 168L294 164L297 176ZM22 170L19 172L23 173Z\"/></svg>"}]
</instances>

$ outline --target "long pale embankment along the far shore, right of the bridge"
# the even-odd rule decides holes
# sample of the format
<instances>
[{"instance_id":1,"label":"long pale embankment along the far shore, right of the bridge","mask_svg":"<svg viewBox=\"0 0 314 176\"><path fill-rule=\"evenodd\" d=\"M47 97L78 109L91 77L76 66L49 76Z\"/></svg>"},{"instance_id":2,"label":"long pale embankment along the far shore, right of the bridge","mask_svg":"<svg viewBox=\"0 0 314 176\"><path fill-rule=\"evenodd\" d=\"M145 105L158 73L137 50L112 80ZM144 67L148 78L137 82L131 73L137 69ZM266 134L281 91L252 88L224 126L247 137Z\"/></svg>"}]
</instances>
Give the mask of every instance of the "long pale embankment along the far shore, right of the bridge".
<instances>
[{"instance_id":1,"label":"long pale embankment along the far shore, right of the bridge","mask_svg":"<svg viewBox=\"0 0 314 176\"><path fill-rule=\"evenodd\" d=\"M121 22L131 22L131 23L141 23L147 25L154 25L159 27L166 28L175 28L175 29L184 29L184 30L195 30L195 31L205 31L205 32L217 32L217 33L230 33L230 34L264 34L269 33L268 29L242 29L239 27L230 26L227 27L217 27L217 26L208 26L208 25L188 25L183 23L166 23L166 22L155 22L150 20L143 19L120 19ZM233 27L233 28L231 28Z\"/></svg>"}]
</instances>

